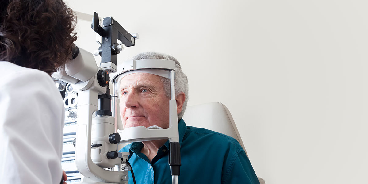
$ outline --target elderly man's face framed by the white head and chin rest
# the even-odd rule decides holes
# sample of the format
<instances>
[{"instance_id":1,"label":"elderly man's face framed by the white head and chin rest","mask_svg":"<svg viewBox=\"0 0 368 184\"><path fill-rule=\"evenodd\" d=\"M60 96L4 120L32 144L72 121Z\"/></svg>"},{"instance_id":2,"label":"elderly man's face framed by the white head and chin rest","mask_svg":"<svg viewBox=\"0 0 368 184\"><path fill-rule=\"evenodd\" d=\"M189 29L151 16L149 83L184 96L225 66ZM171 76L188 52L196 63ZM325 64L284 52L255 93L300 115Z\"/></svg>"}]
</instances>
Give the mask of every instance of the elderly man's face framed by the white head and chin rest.
<instances>
[{"instance_id":1,"label":"elderly man's face framed by the white head and chin rest","mask_svg":"<svg viewBox=\"0 0 368 184\"><path fill-rule=\"evenodd\" d=\"M121 79L120 116L124 128L169 128L169 100L158 75L134 73Z\"/></svg>"}]
</instances>

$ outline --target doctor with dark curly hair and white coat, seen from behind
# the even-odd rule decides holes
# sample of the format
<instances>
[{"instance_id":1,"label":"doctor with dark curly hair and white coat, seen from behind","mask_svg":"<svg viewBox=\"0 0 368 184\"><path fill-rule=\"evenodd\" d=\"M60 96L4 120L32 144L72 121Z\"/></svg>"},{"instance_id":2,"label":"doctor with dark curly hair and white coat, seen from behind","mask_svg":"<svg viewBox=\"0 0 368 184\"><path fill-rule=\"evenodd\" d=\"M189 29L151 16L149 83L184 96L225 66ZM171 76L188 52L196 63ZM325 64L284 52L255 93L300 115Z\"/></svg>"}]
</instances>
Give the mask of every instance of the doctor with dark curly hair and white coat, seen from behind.
<instances>
[{"instance_id":1,"label":"doctor with dark curly hair and white coat, seen from behind","mask_svg":"<svg viewBox=\"0 0 368 184\"><path fill-rule=\"evenodd\" d=\"M0 1L0 183L65 183L65 110L50 75L71 57L74 21L63 0Z\"/></svg>"}]
</instances>

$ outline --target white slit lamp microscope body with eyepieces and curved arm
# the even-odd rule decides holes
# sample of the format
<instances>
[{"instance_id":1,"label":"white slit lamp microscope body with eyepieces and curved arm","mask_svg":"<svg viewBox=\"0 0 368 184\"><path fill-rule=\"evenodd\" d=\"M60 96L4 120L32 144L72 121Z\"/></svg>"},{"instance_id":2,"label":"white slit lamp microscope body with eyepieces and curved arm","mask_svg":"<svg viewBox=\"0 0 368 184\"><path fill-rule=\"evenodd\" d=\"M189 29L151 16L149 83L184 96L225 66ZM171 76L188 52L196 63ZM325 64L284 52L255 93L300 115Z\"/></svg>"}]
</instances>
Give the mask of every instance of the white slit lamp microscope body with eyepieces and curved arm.
<instances>
[{"instance_id":1,"label":"white slit lamp microscope body with eyepieces and curved arm","mask_svg":"<svg viewBox=\"0 0 368 184\"><path fill-rule=\"evenodd\" d=\"M110 135L115 133L115 118L106 114L95 115L99 110L99 95L105 95L108 91L107 85L101 85L100 82L99 71L103 70L96 66L92 53L82 48L78 50L75 59L52 75L69 83L78 94L75 164L79 173L89 181L127 183L127 170L106 170L126 164L128 153L123 156L117 152L120 137L115 142L110 141ZM107 84L108 82L109 80L106 81ZM108 157L110 152L115 154Z\"/></svg>"}]
</instances>

